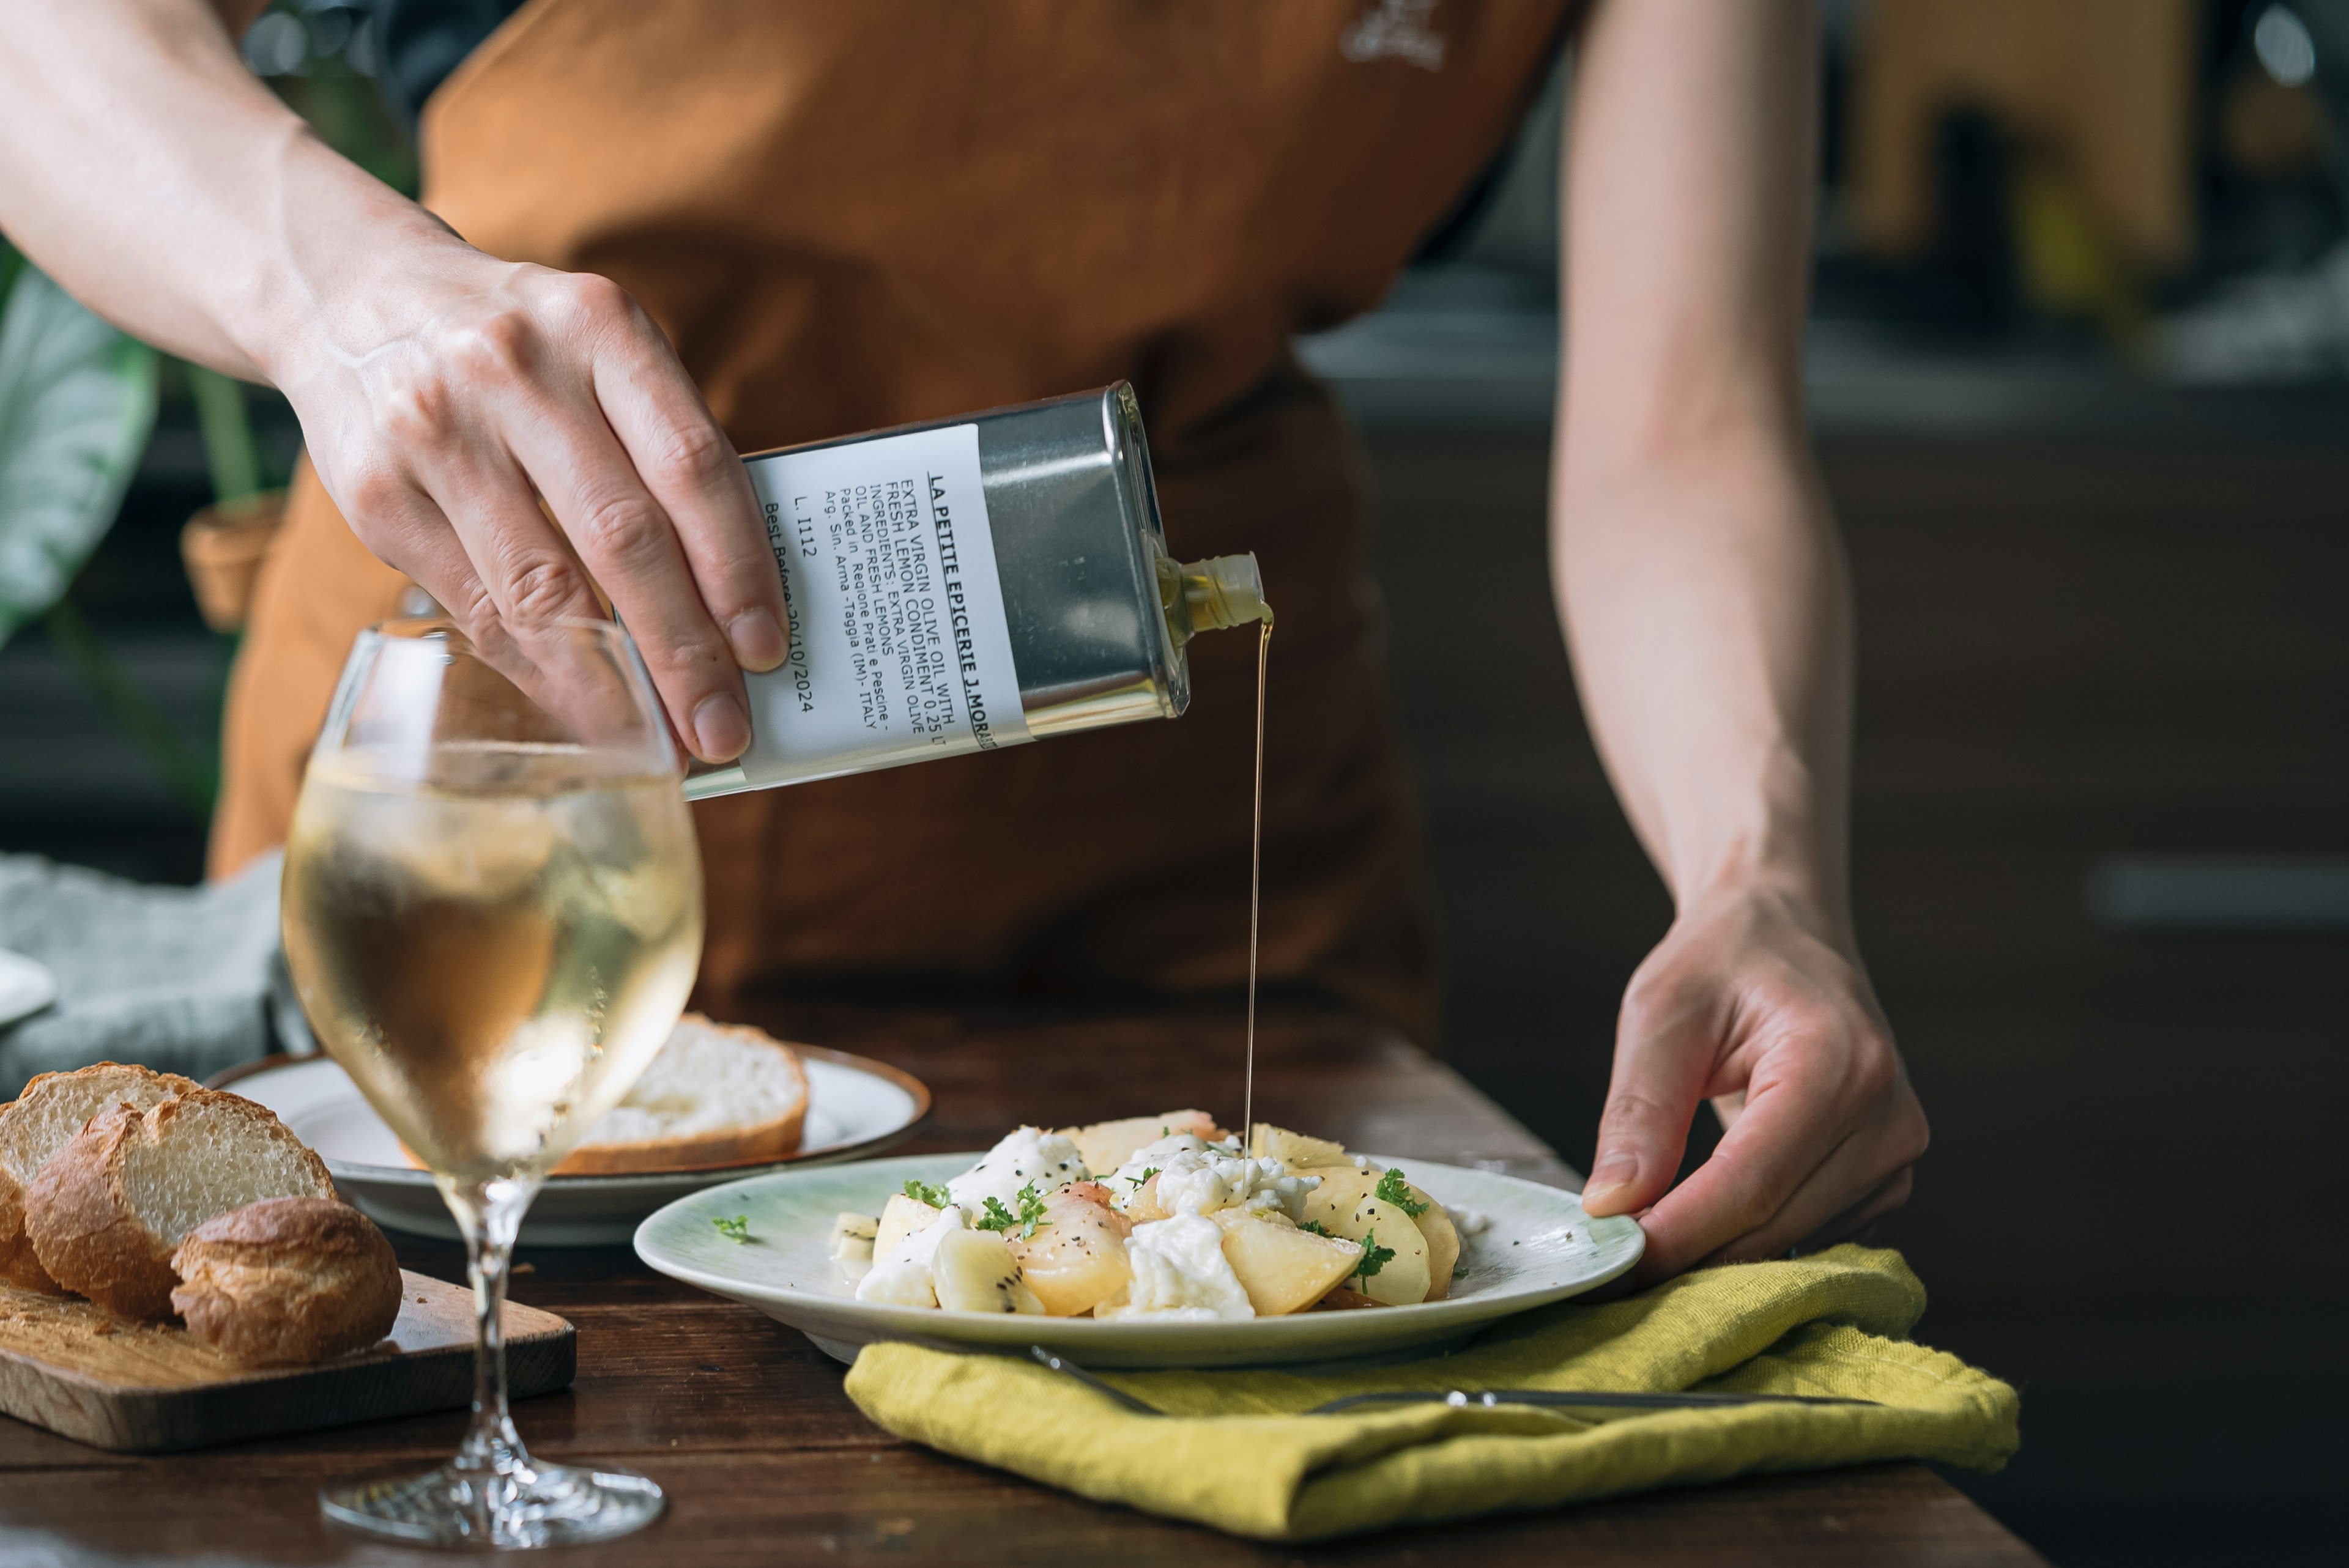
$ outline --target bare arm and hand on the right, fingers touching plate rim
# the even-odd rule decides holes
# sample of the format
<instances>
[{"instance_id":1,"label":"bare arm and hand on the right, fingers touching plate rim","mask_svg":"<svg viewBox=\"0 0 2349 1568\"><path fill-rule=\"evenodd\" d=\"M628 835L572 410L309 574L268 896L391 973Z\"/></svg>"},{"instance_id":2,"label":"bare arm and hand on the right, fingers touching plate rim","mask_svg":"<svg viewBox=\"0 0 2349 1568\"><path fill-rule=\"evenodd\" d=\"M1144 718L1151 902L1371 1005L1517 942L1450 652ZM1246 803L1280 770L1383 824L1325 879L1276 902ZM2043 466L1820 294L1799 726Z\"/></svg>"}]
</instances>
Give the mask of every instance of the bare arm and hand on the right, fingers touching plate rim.
<instances>
[{"instance_id":1,"label":"bare arm and hand on the right, fingers touching plate rim","mask_svg":"<svg viewBox=\"0 0 2349 1568\"><path fill-rule=\"evenodd\" d=\"M1802 420L1809 5L1593 0L1567 148L1557 603L1672 887L1583 1204L1644 1277L1835 1239L1926 1124L1851 934L1851 589ZM1722 1143L1675 1183L1689 1120Z\"/></svg>"}]
</instances>

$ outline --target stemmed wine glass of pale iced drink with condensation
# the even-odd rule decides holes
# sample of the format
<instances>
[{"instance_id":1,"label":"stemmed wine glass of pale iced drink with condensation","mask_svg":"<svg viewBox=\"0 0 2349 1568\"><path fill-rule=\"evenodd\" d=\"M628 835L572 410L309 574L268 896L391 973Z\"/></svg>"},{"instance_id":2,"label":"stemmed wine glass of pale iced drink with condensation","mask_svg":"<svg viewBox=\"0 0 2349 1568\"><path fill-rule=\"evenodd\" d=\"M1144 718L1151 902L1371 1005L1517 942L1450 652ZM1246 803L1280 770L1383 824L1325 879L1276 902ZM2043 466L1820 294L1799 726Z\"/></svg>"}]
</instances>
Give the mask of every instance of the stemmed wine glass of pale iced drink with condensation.
<instances>
[{"instance_id":1,"label":"stemmed wine glass of pale iced drink with condensation","mask_svg":"<svg viewBox=\"0 0 2349 1568\"><path fill-rule=\"evenodd\" d=\"M446 620L404 620L350 650L287 838L287 967L319 1045L432 1169L479 1331L456 1458L319 1493L336 1523L547 1547L660 1516L646 1476L529 1455L498 1317L538 1183L693 988L702 861L679 777L615 624L559 622L491 657Z\"/></svg>"}]
</instances>

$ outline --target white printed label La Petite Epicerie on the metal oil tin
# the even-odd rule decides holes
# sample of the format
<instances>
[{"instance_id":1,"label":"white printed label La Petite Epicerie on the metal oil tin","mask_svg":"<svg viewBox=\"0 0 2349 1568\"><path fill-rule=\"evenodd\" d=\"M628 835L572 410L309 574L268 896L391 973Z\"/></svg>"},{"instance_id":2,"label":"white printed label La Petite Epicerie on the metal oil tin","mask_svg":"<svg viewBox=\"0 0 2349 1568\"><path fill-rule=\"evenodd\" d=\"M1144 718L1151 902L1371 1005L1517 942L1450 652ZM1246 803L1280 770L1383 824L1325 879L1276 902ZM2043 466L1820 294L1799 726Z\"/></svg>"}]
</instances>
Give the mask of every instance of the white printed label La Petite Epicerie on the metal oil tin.
<instances>
[{"instance_id":1,"label":"white printed label La Petite Epicerie on the metal oil tin","mask_svg":"<svg viewBox=\"0 0 2349 1568\"><path fill-rule=\"evenodd\" d=\"M742 777L801 784L1029 739L980 427L752 458L792 657L749 676Z\"/></svg>"}]
</instances>

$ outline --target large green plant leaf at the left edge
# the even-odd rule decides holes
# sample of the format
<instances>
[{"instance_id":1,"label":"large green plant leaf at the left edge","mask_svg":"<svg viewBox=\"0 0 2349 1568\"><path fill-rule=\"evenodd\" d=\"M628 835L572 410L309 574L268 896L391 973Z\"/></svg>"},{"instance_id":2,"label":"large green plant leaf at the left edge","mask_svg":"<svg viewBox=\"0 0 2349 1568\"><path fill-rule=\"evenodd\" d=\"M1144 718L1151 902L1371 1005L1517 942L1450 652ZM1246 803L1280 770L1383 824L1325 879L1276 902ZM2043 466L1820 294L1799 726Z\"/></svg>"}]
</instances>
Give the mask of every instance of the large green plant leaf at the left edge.
<instances>
[{"instance_id":1,"label":"large green plant leaf at the left edge","mask_svg":"<svg viewBox=\"0 0 2349 1568\"><path fill-rule=\"evenodd\" d=\"M0 643L106 538L153 427L155 350L19 261L0 296Z\"/></svg>"}]
</instances>

